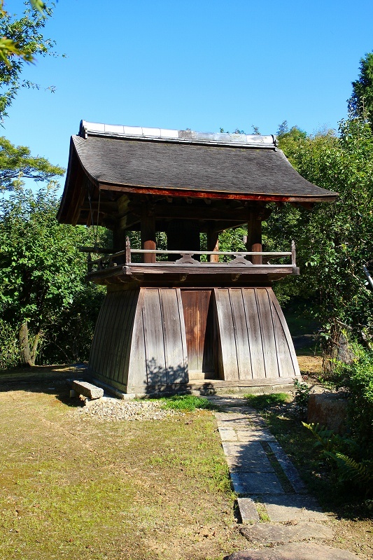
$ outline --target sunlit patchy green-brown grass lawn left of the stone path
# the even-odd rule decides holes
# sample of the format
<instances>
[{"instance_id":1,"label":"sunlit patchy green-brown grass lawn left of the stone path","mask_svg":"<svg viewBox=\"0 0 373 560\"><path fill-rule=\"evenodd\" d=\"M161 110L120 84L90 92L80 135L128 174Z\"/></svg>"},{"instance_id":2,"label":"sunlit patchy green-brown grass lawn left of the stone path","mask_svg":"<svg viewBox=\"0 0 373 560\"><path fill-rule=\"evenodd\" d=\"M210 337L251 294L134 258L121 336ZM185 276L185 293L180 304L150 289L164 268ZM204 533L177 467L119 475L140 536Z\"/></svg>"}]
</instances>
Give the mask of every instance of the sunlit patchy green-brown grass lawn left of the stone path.
<instances>
[{"instance_id":1,"label":"sunlit patchy green-brown grass lawn left of the stone path","mask_svg":"<svg viewBox=\"0 0 373 560\"><path fill-rule=\"evenodd\" d=\"M1 560L207 560L247 546L212 412L99 421L75 412L61 372L40 372L2 382Z\"/></svg>"}]
</instances>

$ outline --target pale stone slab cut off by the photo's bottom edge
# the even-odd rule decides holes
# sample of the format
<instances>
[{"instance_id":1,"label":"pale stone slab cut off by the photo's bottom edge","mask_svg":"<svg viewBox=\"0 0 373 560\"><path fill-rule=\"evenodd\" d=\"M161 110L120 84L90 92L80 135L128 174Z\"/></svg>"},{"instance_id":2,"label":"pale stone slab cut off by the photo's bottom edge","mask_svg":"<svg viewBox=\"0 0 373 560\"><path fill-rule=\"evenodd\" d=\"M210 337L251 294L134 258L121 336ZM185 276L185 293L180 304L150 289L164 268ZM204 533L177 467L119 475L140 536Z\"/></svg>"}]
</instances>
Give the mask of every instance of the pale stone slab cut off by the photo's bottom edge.
<instances>
[{"instance_id":1,"label":"pale stone slab cut off by the photo's bottom edge","mask_svg":"<svg viewBox=\"0 0 373 560\"><path fill-rule=\"evenodd\" d=\"M290 542L288 545L263 550L240 550L227 556L227 560L359 560L352 552L315 542Z\"/></svg>"}]
</instances>

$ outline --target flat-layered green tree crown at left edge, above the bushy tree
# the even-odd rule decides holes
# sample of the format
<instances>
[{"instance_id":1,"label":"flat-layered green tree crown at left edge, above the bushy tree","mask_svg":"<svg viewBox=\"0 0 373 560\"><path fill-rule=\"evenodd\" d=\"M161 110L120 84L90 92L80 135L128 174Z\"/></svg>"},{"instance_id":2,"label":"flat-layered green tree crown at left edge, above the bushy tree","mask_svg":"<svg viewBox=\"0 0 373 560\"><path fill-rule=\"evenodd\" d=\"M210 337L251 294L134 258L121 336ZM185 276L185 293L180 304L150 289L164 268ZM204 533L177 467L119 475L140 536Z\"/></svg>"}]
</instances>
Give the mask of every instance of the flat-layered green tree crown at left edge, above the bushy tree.
<instances>
[{"instance_id":1,"label":"flat-layered green tree crown at left edge, above the bushy tree","mask_svg":"<svg viewBox=\"0 0 373 560\"><path fill-rule=\"evenodd\" d=\"M63 174L62 167L51 165L45 158L32 156L26 146L14 146L0 137L0 190L20 188L25 178L50 181Z\"/></svg>"}]
</instances>

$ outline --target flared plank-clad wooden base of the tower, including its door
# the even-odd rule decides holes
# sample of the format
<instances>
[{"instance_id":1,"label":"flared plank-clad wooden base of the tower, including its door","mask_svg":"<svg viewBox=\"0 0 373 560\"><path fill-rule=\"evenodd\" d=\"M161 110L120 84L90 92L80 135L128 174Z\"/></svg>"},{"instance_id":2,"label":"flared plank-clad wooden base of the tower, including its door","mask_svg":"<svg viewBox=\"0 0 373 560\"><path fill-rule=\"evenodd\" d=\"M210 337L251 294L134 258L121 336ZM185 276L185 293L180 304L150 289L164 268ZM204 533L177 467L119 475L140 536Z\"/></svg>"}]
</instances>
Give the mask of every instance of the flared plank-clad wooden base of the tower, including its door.
<instances>
[{"instance_id":1,"label":"flared plank-clad wooden base of the tower, including its door","mask_svg":"<svg viewBox=\"0 0 373 560\"><path fill-rule=\"evenodd\" d=\"M300 376L272 288L109 291L97 320L90 374L127 393L152 394L191 378L237 385ZM163 389L164 390L164 389Z\"/></svg>"}]
</instances>

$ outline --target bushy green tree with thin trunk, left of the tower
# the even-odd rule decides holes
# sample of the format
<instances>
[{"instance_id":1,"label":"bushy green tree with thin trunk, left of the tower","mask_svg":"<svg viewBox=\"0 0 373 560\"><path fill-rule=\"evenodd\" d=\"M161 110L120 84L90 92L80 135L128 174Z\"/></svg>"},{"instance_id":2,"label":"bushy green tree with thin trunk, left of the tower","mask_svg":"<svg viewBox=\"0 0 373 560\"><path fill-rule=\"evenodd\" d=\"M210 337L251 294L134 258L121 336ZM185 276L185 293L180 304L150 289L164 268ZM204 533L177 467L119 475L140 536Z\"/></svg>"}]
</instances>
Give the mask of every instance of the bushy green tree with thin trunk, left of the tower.
<instances>
[{"instance_id":1,"label":"bushy green tree with thin trunk, left of the tower","mask_svg":"<svg viewBox=\"0 0 373 560\"><path fill-rule=\"evenodd\" d=\"M71 307L80 301L80 314L89 314L85 256L78 246L89 244L90 232L57 223L57 207L54 186L36 194L19 188L0 202L1 316L17 331L21 361L28 365L34 365L41 339L52 342L48 331L57 333L56 325L59 332L66 329ZM55 345L63 346L63 339L66 332Z\"/></svg>"}]
</instances>

